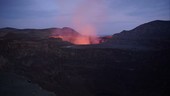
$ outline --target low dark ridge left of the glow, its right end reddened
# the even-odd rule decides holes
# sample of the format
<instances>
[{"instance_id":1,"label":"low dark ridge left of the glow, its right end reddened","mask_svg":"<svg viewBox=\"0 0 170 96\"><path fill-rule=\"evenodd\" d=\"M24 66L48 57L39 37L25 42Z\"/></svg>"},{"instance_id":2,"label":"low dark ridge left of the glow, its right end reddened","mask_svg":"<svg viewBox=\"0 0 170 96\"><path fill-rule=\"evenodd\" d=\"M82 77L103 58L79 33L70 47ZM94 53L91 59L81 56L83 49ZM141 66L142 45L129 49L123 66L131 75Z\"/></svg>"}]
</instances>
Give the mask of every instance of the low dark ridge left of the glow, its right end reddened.
<instances>
[{"instance_id":1,"label":"low dark ridge left of the glow, its right end reddened","mask_svg":"<svg viewBox=\"0 0 170 96\"><path fill-rule=\"evenodd\" d=\"M64 27L64 28L47 28L47 29L15 29L15 28L1 28L0 38L1 39L21 39L21 40L39 40L47 39L50 36L75 36L80 35L75 30Z\"/></svg>"}]
</instances>

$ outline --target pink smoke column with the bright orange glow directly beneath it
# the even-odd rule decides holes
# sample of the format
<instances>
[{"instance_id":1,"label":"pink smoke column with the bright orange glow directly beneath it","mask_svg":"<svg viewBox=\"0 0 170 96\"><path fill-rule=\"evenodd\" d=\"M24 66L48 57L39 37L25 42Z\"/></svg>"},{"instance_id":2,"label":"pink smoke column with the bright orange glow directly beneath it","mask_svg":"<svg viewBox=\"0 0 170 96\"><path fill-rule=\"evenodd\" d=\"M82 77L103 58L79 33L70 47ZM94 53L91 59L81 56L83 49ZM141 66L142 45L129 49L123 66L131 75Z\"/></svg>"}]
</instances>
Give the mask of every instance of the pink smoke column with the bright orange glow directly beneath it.
<instances>
[{"instance_id":1,"label":"pink smoke column with the bright orange glow directly beneath it","mask_svg":"<svg viewBox=\"0 0 170 96\"><path fill-rule=\"evenodd\" d=\"M85 36L77 37L75 44L97 44L99 39L96 36L94 21L100 16L101 10L99 0L83 0L75 9L73 25L78 32Z\"/></svg>"}]
</instances>

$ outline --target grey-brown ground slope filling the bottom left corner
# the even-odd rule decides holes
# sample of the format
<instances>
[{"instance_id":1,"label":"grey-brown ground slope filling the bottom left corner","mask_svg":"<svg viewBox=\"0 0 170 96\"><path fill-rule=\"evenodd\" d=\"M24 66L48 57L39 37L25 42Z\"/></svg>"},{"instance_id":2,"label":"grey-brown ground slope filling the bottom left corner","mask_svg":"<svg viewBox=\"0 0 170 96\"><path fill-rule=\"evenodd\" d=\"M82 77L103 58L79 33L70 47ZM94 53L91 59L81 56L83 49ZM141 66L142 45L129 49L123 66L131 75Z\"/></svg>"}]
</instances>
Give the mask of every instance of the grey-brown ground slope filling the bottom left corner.
<instances>
[{"instance_id":1,"label":"grey-brown ground slope filling the bottom left corner","mask_svg":"<svg viewBox=\"0 0 170 96\"><path fill-rule=\"evenodd\" d=\"M0 96L56 96L29 79L14 73L0 73Z\"/></svg>"}]
</instances>

